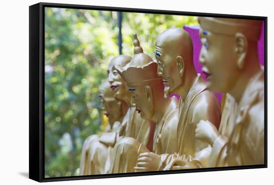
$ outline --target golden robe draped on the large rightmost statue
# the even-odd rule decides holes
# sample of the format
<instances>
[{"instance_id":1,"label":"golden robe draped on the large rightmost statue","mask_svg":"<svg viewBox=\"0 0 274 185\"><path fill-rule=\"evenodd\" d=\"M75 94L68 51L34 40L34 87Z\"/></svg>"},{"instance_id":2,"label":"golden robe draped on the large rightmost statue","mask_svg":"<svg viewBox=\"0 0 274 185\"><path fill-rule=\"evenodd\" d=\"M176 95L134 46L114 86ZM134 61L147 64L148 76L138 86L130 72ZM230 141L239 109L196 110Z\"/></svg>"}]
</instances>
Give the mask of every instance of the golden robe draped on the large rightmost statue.
<instances>
[{"instance_id":1,"label":"golden robe draped on the large rightmost statue","mask_svg":"<svg viewBox=\"0 0 274 185\"><path fill-rule=\"evenodd\" d=\"M239 104L231 96L208 167L259 165L265 162L264 70L249 81ZM224 110L225 111L225 110ZM223 120L224 119L224 120Z\"/></svg>"}]
</instances>

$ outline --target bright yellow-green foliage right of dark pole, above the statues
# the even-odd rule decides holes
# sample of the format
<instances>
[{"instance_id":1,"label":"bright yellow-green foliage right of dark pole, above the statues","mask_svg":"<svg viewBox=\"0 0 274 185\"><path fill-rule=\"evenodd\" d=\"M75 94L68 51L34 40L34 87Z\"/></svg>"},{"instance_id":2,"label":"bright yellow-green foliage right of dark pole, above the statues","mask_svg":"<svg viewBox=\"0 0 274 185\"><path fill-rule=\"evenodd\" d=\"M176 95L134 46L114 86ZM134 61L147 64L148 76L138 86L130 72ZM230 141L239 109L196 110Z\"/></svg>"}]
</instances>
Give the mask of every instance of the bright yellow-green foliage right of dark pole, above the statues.
<instances>
[{"instance_id":1,"label":"bright yellow-green foliage right of dark pole, above the statues","mask_svg":"<svg viewBox=\"0 0 274 185\"><path fill-rule=\"evenodd\" d=\"M133 34L137 33L143 52L154 58L155 40L164 30L198 25L197 17L151 13L123 13L123 53L133 55Z\"/></svg>"}]
</instances>

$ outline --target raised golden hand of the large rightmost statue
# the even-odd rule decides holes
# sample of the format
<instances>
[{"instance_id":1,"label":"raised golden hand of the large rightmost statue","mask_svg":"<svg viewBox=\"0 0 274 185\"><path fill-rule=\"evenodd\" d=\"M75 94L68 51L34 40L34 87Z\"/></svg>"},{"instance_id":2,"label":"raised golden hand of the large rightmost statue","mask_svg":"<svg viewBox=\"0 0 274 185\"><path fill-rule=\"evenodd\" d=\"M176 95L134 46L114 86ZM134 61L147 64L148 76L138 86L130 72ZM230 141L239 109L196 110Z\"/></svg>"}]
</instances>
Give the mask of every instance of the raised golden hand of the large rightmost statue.
<instances>
[{"instance_id":1,"label":"raised golden hand of the large rightmost statue","mask_svg":"<svg viewBox=\"0 0 274 185\"><path fill-rule=\"evenodd\" d=\"M196 126L196 138L213 145L216 138L219 136L219 132L215 125L209 121L201 120Z\"/></svg>"}]
</instances>

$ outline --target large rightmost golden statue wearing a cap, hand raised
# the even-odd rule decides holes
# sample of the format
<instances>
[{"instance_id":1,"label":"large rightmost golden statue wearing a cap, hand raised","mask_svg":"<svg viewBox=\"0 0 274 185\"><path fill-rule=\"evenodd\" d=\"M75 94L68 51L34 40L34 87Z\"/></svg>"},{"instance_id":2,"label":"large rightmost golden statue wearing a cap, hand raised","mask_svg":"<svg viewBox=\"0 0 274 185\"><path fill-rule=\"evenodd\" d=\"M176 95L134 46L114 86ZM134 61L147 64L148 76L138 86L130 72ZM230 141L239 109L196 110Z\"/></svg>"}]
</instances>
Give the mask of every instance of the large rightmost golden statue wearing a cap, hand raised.
<instances>
[{"instance_id":1,"label":"large rightmost golden statue wearing a cap, hand raised","mask_svg":"<svg viewBox=\"0 0 274 185\"><path fill-rule=\"evenodd\" d=\"M207 166L264 164L265 73L257 50L262 21L199 17L199 23L207 87L226 94L219 131L208 121L197 125L197 138L212 146Z\"/></svg>"}]
</instances>

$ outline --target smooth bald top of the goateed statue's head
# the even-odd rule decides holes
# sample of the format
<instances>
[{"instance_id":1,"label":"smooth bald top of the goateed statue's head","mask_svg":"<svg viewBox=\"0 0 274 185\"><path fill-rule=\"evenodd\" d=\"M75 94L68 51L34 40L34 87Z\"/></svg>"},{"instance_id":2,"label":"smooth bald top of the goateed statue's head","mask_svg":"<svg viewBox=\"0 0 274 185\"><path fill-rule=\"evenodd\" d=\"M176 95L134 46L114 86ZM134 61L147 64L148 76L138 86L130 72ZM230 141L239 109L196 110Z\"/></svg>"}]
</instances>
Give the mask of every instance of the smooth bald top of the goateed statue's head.
<instances>
[{"instance_id":1,"label":"smooth bald top of the goateed statue's head","mask_svg":"<svg viewBox=\"0 0 274 185\"><path fill-rule=\"evenodd\" d=\"M181 56L184 62L193 64L193 45L190 35L182 28L169 28L156 39L156 51L171 56Z\"/></svg>"}]
</instances>

